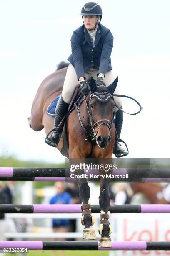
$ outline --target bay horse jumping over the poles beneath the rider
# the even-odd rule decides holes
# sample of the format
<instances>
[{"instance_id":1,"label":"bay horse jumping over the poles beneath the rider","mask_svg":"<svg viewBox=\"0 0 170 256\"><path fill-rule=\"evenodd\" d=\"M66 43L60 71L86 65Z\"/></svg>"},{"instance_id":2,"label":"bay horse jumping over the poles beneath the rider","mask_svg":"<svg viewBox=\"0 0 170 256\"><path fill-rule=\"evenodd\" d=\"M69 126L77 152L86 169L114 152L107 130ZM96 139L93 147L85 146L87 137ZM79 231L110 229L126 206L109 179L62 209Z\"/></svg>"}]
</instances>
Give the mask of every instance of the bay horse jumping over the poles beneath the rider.
<instances>
[{"instance_id":1,"label":"bay horse jumping over the poles beneath the rider","mask_svg":"<svg viewBox=\"0 0 170 256\"><path fill-rule=\"evenodd\" d=\"M47 115L47 107L50 103L61 94L62 87L67 72L67 65L61 65L54 73L47 76L37 90L34 101L32 103L30 126L34 131L40 131L43 128L47 134L54 127L54 118ZM95 142L92 143L89 136L85 134L82 129L74 109L67 117L67 140L69 142L69 159L112 159L112 152L115 143L115 125L114 107L115 102L113 93L117 86L118 77L108 87L101 85L96 86L93 79L90 80L91 95L87 95L86 100L83 100L79 110L82 123L88 131L90 120L87 115L87 105L90 102L89 111L92 122L94 123L93 136L96 136ZM104 95L104 96L103 96ZM106 97L102 100L102 97ZM86 102L87 101L87 102ZM87 105L86 105L87 104ZM61 151L63 145L62 137L57 146ZM99 170L102 174L102 171ZM107 172L111 174L112 170ZM75 171L75 174L80 174L80 170ZM89 203L90 188L86 179L77 179L79 186L79 195L82 200L82 225L85 225L83 230L83 238L96 239L95 230L92 227L94 224L94 216L91 214L91 207ZM100 179L100 196L99 204L101 208L101 222L99 227L100 246L111 247L111 227L109 223L108 209L110 206L109 197L109 183L110 180Z\"/></svg>"}]
</instances>

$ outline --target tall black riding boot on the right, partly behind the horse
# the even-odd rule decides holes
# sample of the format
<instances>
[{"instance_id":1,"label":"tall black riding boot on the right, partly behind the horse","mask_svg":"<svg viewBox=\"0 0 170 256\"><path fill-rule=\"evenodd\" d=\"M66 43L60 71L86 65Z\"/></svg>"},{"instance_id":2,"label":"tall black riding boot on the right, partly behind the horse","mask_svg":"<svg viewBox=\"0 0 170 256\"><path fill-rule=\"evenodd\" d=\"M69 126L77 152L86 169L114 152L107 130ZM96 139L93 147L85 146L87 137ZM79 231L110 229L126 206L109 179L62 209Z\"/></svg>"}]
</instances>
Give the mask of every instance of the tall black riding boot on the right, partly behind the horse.
<instances>
[{"instance_id":1,"label":"tall black riding boot on the right, partly behind the horse","mask_svg":"<svg viewBox=\"0 0 170 256\"><path fill-rule=\"evenodd\" d=\"M121 106L122 108L122 106ZM122 108L123 109L123 108ZM115 120L115 128L117 131L117 136L118 139L120 139L120 133L122 130L122 125L123 125L123 112L121 110L117 110L116 112L116 120ZM115 146L113 148L113 154L116 157L122 157L122 156L127 156L128 151L125 151L125 149L122 147L122 145L119 143L118 140L115 141Z\"/></svg>"}]
</instances>

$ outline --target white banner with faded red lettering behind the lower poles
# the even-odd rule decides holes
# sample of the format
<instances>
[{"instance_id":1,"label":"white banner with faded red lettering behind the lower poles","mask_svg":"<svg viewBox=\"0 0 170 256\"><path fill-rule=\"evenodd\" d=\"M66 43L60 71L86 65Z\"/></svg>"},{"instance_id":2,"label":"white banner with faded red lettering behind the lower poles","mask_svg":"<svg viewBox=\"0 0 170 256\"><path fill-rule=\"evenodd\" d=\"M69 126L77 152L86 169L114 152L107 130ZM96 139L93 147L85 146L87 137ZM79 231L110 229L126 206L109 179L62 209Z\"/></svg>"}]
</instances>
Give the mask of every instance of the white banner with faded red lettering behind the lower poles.
<instances>
[{"instance_id":1,"label":"white banner with faded red lettering behind the lower poles","mask_svg":"<svg viewBox=\"0 0 170 256\"><path fill-rule=\"evenodd\" d=\"M112 241L170 241L169 214L111 214ZM170 251L110 251L110 256L170 255Z\"/></svg>"}]
</instances>

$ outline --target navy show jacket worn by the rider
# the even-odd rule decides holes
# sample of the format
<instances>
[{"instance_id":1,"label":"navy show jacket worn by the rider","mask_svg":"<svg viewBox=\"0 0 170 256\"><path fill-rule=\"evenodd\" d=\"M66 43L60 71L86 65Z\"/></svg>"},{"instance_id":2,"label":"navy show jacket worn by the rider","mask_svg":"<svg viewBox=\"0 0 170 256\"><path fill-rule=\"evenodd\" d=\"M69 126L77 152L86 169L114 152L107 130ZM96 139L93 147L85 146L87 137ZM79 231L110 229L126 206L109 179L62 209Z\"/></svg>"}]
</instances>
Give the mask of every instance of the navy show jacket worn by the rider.
<instances>
[{"instance_id":1,"label":"navy show jacket worn by the rider","mask_svg":"<svg viewBox=\"0 0 170 256\"><path fill-rule=\"evenodd\" d=\"M105 74L107 70L112 70L110 59L112 47L112 33L102 24L98 24L94 48L85 26L77 28L71 37L72 54L67 59L75 67L77 79L85 77L85 72L91 64L99 69L98 73Z\"/></svg>"}]
</instances>

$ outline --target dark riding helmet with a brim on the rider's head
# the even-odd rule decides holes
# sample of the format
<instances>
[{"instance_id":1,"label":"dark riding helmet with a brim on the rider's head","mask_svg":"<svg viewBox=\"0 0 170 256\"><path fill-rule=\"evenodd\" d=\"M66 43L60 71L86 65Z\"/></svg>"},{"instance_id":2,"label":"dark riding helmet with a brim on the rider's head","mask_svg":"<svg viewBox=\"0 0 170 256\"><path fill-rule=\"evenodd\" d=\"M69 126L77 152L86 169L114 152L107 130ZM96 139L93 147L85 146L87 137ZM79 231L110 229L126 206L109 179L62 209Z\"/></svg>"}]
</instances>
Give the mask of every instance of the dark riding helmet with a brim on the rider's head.
<instances>
[{"instance_id":1,"label":"dark riding helmet with a brim on the rider's head","mask_svg":"<svg viewBox=\"0 0 170 256\"><path fill-rule=\"evenodd\" d=\"M102 8L95 2L88 2L83 5L80 15L98 15L102 19Z\"/></svg>"}]
</instances>

